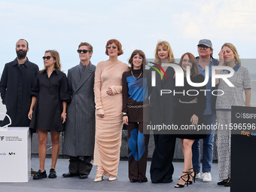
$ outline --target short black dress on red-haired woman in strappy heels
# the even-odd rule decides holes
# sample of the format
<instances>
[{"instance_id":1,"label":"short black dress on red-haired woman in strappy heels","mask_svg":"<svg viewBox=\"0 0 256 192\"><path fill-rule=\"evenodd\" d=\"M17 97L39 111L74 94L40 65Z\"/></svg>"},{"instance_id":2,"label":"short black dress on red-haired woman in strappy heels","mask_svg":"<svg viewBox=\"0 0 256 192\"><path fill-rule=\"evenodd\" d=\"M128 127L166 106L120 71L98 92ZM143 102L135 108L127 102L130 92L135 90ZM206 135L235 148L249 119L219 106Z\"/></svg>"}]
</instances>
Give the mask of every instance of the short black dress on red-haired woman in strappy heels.
<instances>
[{"instance_id":1,"label":"short black dress on red-haired woman in strappy heels","mask_svg":"<svg viewBox=\"0 0 256 192\"><path fill-rule=\"evenodd\" d=\"M201 83L204 81L204 77L203 75L195 77L190 75L190 80L194 83ZM189 91L187 92L187 90ZM202 90L206 90L206 87L192 87L187 83L186 77L184 77L184 87L175 87L175 91L178 92L178 106L175 107L175 124L178 125L178 135L176 136L180 139L206 138L206 130L197 130L197 126L191 126L190 122L193 114L196 114L198 117L197 125L202 126L203 124L206 96L205 91Z\"/></svg>"}]
</instances>

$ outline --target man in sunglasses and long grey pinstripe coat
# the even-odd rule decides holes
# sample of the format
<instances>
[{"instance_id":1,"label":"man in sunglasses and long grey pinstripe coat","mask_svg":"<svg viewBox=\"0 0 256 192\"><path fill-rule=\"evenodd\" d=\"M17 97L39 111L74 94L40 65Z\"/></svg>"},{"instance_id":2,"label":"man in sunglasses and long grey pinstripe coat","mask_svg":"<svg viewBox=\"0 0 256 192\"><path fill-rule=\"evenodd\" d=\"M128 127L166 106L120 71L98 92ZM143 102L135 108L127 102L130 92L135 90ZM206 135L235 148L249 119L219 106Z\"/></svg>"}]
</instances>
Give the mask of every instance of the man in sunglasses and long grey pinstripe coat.
<instances>
[{"instance_id":1,"label":"man in sunglasses and long grey pinstripe coat","mask_svg":"<svg viewBox=\"0 0 256 192\"><path fill-rule=\"evenodd\" d=\"M87 178L93 165L95 139L94 73L96 66L90 62L93 47L88 43L78 46L80 63L69 69L69 93L72 102L67 108L63 154L69 155L69 172L64 178Z\"/></svg>"}]
</instances>

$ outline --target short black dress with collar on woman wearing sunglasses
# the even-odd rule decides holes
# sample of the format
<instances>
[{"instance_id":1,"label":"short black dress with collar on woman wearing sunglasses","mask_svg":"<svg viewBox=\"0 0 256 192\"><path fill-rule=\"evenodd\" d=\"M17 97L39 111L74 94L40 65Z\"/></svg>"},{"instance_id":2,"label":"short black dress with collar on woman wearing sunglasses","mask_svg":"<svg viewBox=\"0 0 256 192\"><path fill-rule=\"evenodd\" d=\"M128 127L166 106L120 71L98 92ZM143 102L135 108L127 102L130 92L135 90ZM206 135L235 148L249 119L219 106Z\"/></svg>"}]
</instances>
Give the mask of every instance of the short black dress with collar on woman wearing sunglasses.
<instances>
[{"instance_id":1,"label":"short black dress with collar on woman wearing sunglasses","mask_svg":"<svg viewBox=\"0 0 256 192\"><path fill-rule=\"evenodd\" d=\"M54 70L48 78L46 70L38 72L31 96L37 99L29 127L35 130L63 131L62 102L70 101L66 75Z\"/></svg>"}]
</instances>

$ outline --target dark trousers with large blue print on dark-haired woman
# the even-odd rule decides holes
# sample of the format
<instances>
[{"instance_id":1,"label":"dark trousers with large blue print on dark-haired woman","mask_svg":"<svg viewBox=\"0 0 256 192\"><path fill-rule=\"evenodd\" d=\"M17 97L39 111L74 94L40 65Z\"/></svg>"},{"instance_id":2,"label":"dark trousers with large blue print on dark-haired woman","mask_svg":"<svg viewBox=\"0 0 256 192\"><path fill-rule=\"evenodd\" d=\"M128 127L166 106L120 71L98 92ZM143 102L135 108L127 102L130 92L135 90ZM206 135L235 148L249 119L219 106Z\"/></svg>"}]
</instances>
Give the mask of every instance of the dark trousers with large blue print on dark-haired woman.
<instances>
[{"instance_id":1,"label":"dark trousers with large blue print on dark-haired woman","mask_svg":"<svg viewBox=\"0 0 256 192\"><path fill-rule=\"evenodd\" d=\"M143 134L142 122L129 122L128 163L129 178L148 181L146 178L149 134Z\"/></svg>"}]
</instances>

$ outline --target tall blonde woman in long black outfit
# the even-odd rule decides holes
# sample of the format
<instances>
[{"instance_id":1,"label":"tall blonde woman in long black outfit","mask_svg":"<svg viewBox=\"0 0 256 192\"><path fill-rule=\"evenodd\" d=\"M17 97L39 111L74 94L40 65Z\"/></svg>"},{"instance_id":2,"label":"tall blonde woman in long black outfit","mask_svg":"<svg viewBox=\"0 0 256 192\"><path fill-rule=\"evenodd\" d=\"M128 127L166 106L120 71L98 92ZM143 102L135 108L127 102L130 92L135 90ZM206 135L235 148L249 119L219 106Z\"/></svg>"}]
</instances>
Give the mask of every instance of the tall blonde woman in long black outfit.
<instances>
[{"instance_id":1,"label":"tall blonde woman in long black outfit","mask_svg":"<svg viewBox=\"0 0 256 192\"><path fill-rule=\"evenodd\" d=\"M173 78L175 71L171 66L162 66L162 63L175 63L172 48L167 41L157 42L154 66L147 73L148 95L151 103L151 126L171 125L174 123L175 96L172 94L160 96L160 90L175 89L175 79ZM160 73L156 72L156 69ZM156 72L155 78L152 72ZM152 86L151 82L153 80L156 86ZM174 172L172 159L175 151L175 142L176 138L172 133L159 134L158 131L154 131L155 148L150 169L152 183L172 182L172 174Z\"/></svg>"}]
</instances>

